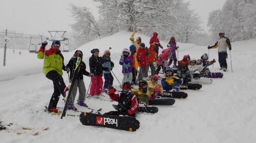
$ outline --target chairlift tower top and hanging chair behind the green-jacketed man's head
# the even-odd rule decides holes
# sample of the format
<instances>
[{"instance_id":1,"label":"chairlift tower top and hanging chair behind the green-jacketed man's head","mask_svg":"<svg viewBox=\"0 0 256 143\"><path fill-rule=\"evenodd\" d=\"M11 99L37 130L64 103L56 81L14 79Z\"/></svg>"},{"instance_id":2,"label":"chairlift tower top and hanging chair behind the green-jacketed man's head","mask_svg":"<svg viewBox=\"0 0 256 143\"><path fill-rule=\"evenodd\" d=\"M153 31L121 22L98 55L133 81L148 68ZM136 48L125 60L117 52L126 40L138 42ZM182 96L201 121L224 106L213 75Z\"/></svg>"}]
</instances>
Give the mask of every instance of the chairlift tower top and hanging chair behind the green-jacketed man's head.
<instances>
[{"instance_id":1,"label":"chairlift tower top and hanging chair behind the green-jacketed man's head","mask_svg":"<svg viewBox=\"0 0 256 143\"><path fill-rule=\"evenodd\" d=\"M68 40L68 42L69 42L69 38L63 37L67 31L48 31L48 32L50 33L51 38L46 38L46 39L49 41L53 41L53 40L66 41L66 40ZM69 52L70 48L69 48L68 44L65 44L66 49L64 49L64 46L63 46L63 50L62 50L63 52Z\"/></svg>"}]
</instances>

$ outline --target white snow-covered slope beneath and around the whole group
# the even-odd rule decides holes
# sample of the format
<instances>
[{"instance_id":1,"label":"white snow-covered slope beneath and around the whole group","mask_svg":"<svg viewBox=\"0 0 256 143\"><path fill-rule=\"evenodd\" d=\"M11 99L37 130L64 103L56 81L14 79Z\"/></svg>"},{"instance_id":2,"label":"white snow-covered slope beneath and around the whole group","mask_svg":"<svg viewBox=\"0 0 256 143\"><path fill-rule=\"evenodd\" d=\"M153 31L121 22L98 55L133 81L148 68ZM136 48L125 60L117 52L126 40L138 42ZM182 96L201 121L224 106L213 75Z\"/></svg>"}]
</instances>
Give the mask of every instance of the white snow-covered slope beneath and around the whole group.
<instances>
[{"instance_id":1,"label":"white snow-covered slope beneath and around the whole group","mask_svg":"<svg viewBox=\"0 0 256 143\"><path fill-rule=\"evenodd\" d=\"M120 32L113 36L105 37L84 44L79 47L83 51L83 61L89 70L90 50L111 49L111 58L115 63L113 72L121 82L121 66L119 58L123 48L131 45L131 33ZM142 42L148 42L150 37L142 37ZM217 39L216 39L217 40ZM165 47L166 42L161 41ZM214 43L212 43L213 45ZM50 47L51 44L47 46ZM203 53L208 53L207 46L194 44L177 44L179 60L184 54L191 58L199 59ZM228 52L228 70L221 79L213 79L212 84L203 85L199 91L186 90L186 99L176 99L173 106L157 106L158 113L138 113L140 128L136 132L120 131L92 126L83 126L79 117L65 117L49 115L42 112L48 106L53 92L52 81L42 73L43 60L38 60L37 55L21 50L13 54L7 49L6 66L0 66L0 119L3 124L14 123L12 130L23 131L26 134L18 135L15 132L0 131L1 142L254 142L256 140L256 98L253 92L256 87L254 59L256 54L256 39L231 43L231 60ZM160 49L161 51L161 49ZM0 63L3 64L3 52L0 52ZM65 64L68 64L74 51L63 53ZM217 49L209 50L210 60L218 61ZM219 63L209 67L211 72L220 72ZM67 73L63 74L68 84ZM86 88L90 78L84 77ZM114 85L118 85L114 77ZM77 97L78 98L78 95ZM63 107L62 97L58 107ZM116 102L86 99L91 108L102 108L102 113L114 110L112 104ZM76 106L78 110L90 111L87 108ZM68 111L67 113L74 113ZM22 130L21 127L33 127L40 131L37 136L30 133L34 131ZM49 130L42 131L44 127Z\"/></svg>"}]
</instances>

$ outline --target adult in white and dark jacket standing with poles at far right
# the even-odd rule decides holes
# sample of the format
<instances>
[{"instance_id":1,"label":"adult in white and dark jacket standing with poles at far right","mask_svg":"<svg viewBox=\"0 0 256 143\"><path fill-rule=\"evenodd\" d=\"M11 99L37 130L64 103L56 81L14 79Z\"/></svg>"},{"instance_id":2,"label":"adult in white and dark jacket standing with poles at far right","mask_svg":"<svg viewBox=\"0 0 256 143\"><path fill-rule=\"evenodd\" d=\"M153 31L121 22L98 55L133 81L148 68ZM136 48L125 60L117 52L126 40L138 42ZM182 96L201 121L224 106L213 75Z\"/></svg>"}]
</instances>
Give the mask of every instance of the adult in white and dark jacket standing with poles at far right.
<instances>
[{"instance_id":1,"label":"adult in white and dark jacket standing with poles at far right","mask_svg":"<svg viewBox=\"0 0 256 143\"><path fill-rule=\"evenodd\" d=\"M217 48L218 47L218 55L219 55L219 63L220 70L227 71L227 47L231 50L231 44L227 37L225 37L225 33L219 33L220 39L217 40L214 46L208 46L208 49ZM230 59L231 60L231 59Z\"/></svg>"}]
</instances>

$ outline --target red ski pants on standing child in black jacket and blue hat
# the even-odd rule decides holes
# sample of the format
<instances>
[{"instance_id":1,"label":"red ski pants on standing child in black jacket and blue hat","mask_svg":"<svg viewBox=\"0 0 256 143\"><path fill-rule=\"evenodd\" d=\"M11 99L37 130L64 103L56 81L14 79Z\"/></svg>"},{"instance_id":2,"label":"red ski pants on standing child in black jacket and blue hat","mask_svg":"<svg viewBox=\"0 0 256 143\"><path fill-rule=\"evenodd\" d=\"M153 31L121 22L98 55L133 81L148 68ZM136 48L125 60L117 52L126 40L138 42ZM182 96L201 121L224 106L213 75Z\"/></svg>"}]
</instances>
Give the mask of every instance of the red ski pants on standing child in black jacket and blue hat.
<instances>
[{"instance_id":1,"label":"red ski pants on standing child in black jacket and blue hat","mask_svg":"<svg viewBox=\"0 0 256 143\"><path fill-rule=\"evenodd\" d=\"M102 93L103 80L102 75L95 75L91 78L90 96L99 95Z\"/></svg>"}]
</instances>

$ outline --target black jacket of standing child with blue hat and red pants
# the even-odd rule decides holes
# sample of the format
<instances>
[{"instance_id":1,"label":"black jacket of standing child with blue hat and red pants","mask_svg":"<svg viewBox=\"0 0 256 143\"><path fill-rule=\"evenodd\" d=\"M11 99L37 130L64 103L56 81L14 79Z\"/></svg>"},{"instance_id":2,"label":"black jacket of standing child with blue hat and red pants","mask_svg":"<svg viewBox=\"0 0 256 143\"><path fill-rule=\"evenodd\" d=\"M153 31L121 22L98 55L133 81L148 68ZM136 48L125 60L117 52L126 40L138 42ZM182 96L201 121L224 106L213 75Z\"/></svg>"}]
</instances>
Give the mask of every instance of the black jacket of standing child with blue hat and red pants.
<instances>
[{"instance_id":1,"label":"black jacket of standing child with blue hat and red pants","mask_svg":"<svg viewBox=\"0 0 256 143\"><path fill-rule=\"evenodd\" d=\"M89 59L89 66L90 66L90 73L93 73L94 75L101 75L103 74L103 69L104 70L108 70L106 68L102 67L102 63L101 63L101 58L102 57L95 57L94 55L92 55ZM103 69L102 69L103 68Z\"/></svg>"}]
</instances>

